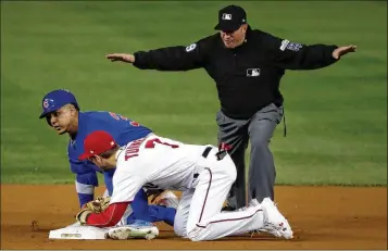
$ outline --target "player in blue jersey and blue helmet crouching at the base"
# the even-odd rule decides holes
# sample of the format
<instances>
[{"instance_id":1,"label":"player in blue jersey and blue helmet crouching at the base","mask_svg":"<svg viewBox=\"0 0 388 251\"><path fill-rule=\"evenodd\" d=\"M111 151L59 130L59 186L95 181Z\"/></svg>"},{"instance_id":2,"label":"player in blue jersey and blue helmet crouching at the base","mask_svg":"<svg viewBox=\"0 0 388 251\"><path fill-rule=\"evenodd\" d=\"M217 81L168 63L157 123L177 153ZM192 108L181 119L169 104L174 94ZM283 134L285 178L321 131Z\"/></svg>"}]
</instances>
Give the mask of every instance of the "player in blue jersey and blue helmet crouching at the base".
<instances>
[{"instance_id":1,"label":"player in blue jersey and blue helmet crouching at the base","mask_svg":"<svg viewBox=\"0 0 388 251\"><path fill-rule=\"evenodd\" d=\"M78 193L80 208L93 200L95 187L98 186L97 172L101 172L92 162L79 161L84 152L84 140L95 130L109 131L121 146L143 138L152 130L139 125L137 122L112 112L80 112L74 95L64 89L50 91L42 99L42 113L39 118L46 118L47 123L59 135L68 134L70 141L67 155L71 171L76 174L75 187ZM112 196L112 177L115 170L103 172L104 183ZM127 215L127 224L140 219L145 222L164 221L174 226L176 209L162 205L149 205L146 191L140 189L130 204ZM124 223L125 224L125 223Z\"/></svg>"}]
</instances>

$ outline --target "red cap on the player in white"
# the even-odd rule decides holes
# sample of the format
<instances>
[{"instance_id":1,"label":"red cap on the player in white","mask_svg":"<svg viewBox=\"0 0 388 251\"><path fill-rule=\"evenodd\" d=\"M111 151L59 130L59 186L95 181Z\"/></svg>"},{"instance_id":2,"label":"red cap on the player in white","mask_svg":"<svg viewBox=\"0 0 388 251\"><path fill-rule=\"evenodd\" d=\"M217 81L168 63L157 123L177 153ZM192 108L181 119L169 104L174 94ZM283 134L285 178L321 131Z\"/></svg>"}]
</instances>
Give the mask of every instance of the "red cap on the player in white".
<instances>
[{"instance_id":1,"label":"red cap on the player in white","mask_svg":"<svg viewBox=\"0 0 388 251\"><path fill-rule=\"evenodd\" d=\"M78 159L83 161L90 156L99 155L116 146L117 143L109 133L104 130L95 130L86 136L84 141L84 153Z\"/></svg>"}]
</instances>

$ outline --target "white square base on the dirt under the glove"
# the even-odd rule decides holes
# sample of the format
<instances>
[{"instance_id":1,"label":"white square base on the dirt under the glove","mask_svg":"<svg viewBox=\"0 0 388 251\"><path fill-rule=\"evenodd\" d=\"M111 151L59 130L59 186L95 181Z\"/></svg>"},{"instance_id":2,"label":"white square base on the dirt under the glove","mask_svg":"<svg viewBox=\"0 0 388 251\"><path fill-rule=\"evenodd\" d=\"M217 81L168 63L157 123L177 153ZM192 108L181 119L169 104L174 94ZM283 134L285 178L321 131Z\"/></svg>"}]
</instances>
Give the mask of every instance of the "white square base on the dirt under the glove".
<instances>
[{"instance_id":1,"label":"white square base on the dirt under the glove","mask_svg":"<svg viewBox=\"0 0 388 251\"><path fill-rule=\"evenodd\" d=\"M104 240L108 239L108 228L80 226L78 223L64 228L51 230L49 239Z\"/></svg>"}]
</instances>

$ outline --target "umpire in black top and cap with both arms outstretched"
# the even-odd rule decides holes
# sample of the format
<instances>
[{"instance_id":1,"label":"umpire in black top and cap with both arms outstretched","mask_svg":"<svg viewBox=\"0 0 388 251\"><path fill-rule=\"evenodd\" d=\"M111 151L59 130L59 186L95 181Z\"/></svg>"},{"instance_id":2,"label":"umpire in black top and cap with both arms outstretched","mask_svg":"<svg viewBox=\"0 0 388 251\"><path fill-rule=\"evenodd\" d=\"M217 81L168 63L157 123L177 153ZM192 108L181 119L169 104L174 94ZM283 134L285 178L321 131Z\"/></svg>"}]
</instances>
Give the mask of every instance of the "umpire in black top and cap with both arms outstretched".
<instances>
[{"instance_id":1,"label":"umpire in black top and cap with both arms outstretched","mask_svg":"<svg viewBox=\"0 0 388 251\"><path fill-rule=\"evenodd\" d=\"M190 46L175 46L107 59L133 63L140 70L188 71L204 68L217 88L218 143L228 149L237 179L228 198L229 210L246 205L245 151L251 142L249 201L274 199L275 165L270 140L283 117L280 79L286 70L316 70L354 52L355 46L302 45L275 37L247 23L237 5L220 10L220 33Z\"/></svg>"}]
</instances>

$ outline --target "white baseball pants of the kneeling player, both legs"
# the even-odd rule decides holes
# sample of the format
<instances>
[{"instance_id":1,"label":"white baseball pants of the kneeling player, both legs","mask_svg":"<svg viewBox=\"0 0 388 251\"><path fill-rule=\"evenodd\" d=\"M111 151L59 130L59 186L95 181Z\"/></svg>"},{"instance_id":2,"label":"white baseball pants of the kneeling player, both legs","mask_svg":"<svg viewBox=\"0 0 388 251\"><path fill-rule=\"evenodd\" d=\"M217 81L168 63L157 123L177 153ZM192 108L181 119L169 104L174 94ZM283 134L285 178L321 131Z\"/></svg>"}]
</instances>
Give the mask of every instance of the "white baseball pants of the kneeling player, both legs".
<instances>
[{"instance_id":1,"label":"white baseball pants of the kneeling player, both legs","mask_svg":"<svg viewBox=\"0 0 388 251\"><path fill-rule=\"evenodd\" d=\"M239 212L221 212L236 179L236 166L227 154L218 161L216 148L198 163L193 188L183 192L177 208L175 234L192 241L214 240L263 227L261 205Z\"/></svg>"}]
</instances>

